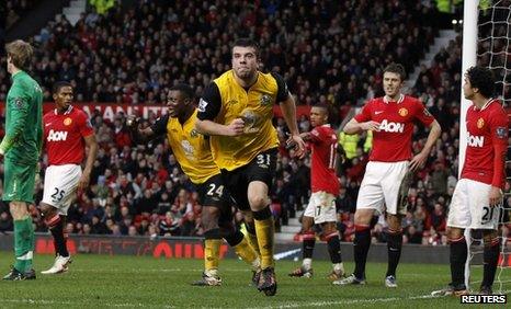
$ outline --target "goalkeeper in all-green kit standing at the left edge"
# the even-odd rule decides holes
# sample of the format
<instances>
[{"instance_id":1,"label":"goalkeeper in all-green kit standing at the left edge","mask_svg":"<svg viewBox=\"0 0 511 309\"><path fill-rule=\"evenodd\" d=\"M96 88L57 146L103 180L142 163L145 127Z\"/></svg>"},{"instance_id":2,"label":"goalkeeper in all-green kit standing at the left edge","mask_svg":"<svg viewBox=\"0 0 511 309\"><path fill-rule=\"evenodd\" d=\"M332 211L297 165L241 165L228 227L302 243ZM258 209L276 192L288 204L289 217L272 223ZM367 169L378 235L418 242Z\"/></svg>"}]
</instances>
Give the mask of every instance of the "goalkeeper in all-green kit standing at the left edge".
<instances>
[{"instance_id":1,"label":"goalkeeper in all-green kit standing at the left edge","mask_svg":"<svg viewBox=\"0 0 511 309\"><path fill-rule=\"evenodd\" d=\"M14 220L15 262L4 281L35 279L32 268L34 227L27 204L34 203L34 183L43 139L43 91L25 69L34 54L21 39L5 46L7 67L12 76L5 106L5 136L0 144L4 157L2 199Z\"/></svg>"}]
</instances>

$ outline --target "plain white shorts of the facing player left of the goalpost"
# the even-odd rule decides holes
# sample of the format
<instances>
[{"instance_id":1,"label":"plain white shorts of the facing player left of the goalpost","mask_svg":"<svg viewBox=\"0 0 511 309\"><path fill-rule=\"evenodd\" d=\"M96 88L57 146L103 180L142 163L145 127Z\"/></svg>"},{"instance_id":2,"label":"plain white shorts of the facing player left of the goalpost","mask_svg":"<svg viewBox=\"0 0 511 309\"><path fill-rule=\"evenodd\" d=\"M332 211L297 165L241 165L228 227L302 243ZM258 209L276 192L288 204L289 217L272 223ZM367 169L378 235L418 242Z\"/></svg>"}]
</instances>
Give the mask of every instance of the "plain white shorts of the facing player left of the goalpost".
<instances>
[{"instance_id":1,"label":"plain white shorts of the facing player left of the goalpost","mask_svg":"<svg viewBox=\"0 0 511 309\"><path fill-rule=\"evenodd\" d=\"M374 162L365 168L364 180L356 198L356 209L374 209L384 214L397 215L399 186L408 171L408 161ZM406 215L401 209L400 215Z\"/></svg>"}]
</instances>

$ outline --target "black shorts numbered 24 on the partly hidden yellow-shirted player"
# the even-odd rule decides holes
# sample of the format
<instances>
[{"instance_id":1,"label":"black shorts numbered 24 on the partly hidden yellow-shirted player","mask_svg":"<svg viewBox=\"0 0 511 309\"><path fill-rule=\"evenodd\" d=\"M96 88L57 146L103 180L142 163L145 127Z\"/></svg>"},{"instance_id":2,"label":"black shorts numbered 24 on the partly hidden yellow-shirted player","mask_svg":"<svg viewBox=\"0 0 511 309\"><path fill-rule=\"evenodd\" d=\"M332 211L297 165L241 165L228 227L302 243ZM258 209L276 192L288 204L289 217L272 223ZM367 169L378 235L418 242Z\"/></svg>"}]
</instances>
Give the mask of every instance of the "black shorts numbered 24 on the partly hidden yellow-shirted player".
<instances>
[{"instance_id":1,"label":"black shorts numbered 24 on the partly hidden yellow-shirted player","mask_svg":"<svg viewBox=\"0 0 511 309\"><path fill-rule=\"evenodd\" d=\"M198 201L202 206L212 206L220 209L220 221L232 219L232 199L224 184L220 174L209 178L202 184L196 185Z\"/></svg>"}]
</instances>

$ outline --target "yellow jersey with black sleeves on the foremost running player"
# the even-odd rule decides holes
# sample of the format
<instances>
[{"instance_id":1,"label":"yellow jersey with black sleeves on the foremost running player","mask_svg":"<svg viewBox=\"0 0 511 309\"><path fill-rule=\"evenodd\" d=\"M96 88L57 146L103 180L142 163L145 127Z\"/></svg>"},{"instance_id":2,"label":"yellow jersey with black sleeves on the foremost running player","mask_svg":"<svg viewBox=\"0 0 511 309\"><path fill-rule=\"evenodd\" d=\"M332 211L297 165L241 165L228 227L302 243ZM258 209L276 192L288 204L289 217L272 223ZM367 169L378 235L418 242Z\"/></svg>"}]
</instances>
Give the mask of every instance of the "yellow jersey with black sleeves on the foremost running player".
<instances>
[{"instance_id":1,"label":"yellow jersey with black sleeves on the foremost running player","mask_svg":"<svg viewBox=\"0 0 511 309\"><path fill-rule=\"evenodd\" d=\"M198 117L218 124L245 121L245 134L212 136L213 158L220 169L228 171L243 167L257 154L279 146L273 127L273 105L287 99L288 91L282 77L258 72L258 81L246 90L236 82L232 70L214 80L214 85L201 99ZM215 87L216 85L216 87ZM211 89L211 88L216 89ZM219 98L218 98L219 96Z\"/></svg>"}]
</instances>

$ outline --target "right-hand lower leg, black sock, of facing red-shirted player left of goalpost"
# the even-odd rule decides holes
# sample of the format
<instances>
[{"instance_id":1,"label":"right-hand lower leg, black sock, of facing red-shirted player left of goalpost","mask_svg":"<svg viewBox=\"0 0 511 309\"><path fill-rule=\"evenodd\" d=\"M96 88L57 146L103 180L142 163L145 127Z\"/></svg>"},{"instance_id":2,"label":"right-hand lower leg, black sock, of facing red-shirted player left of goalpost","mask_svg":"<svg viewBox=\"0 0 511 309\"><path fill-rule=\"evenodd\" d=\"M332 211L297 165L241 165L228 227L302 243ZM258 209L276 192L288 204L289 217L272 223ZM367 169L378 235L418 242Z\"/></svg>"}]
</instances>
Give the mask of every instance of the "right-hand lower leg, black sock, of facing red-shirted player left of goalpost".
<instances>
[{"instance_id":1,"label":"right-hand lower leg, black sock, of facing red-shirted player left of goalpost","mask_svg":"<svg viewBox=\"0 0 511 309\"><path fill-rule=\"evenodd\" d=\"M396 283L396 268L399 264L402 249L402 229L401 229L401 215L387 215L387 274L385 275L385 286L397 287Z\"/></svg>"}]
</instances>

